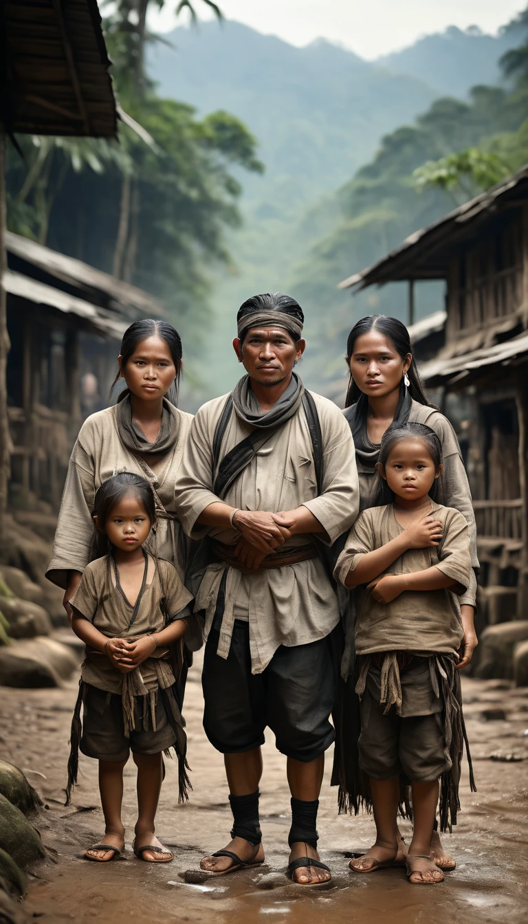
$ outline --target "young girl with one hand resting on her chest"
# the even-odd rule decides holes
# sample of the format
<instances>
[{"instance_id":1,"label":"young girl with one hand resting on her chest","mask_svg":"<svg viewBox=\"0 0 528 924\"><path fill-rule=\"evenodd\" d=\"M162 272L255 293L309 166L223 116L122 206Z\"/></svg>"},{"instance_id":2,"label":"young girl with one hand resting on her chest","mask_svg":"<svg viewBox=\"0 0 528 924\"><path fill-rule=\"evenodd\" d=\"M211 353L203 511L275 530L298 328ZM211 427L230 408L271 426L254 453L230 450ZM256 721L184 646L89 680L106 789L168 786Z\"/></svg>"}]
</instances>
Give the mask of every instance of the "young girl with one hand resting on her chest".
<instances>
[{"instance_id":1,"label":"young girl with one hand resting on her chest","mask_svg":"<svg viewBox=\"0 0 528 924\"><path fill-rule=\"evenodd\" d=\"M394 501L360 514L335 571L345 587L358 589L359 763L369 778L376 825L375 845L351 860L350 869L394 865L404 774L412 793L406 865L413 883L444 879L430 856L439 781L445 831L449 818L456 823L465 739L455 670L463 639L456 595L469 586L472 560L466 520L429 494L441 476L441 458L440 441L424 424L387 429L377 470ZM474 789L471 761L470 781Z\"/></svg>"}]
</instances>

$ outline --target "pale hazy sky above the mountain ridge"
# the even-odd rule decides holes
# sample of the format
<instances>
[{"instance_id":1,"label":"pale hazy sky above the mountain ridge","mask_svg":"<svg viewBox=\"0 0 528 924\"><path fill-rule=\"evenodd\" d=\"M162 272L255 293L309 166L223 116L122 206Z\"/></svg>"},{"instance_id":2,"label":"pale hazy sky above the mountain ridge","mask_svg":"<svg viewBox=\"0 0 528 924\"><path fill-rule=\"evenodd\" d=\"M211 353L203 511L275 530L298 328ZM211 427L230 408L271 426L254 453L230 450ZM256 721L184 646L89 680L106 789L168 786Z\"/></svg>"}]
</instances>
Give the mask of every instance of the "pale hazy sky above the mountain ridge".
<instances>
[{"instance_id":1,"label":"pale hazy sky above the mountain ridge","mask_svg":"<svg viewBox=\"0 0 528 924\"><path fill-rule=\"evenodd\" d=\"M194 0L197 11L206 6ZM519 13L526 0L216 0L228 19L237 19L264 33L279 35L295 45L321 36L346 45L365 58L386 55L411 44L427 32L447 26L478 25L496 32ZM153 28L170 30L176 3L166 0ZM179 17L187 19L186 13Z\"/></svg>"}]
</instances>

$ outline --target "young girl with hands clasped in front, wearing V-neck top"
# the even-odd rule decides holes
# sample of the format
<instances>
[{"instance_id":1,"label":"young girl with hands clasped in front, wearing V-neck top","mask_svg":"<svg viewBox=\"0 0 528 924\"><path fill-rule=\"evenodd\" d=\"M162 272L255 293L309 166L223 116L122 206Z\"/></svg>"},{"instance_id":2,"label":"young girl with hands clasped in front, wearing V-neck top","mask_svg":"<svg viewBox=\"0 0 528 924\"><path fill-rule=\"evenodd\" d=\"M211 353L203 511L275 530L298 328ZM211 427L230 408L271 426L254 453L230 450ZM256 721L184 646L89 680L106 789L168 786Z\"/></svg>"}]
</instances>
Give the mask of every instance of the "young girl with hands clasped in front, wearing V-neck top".
<instances>
[{"instance_id":1,"label":"young girl with hands clasped in front, wearing V-neck top","mask_svg":"<svg viewBox=\"0 0 528 924\"><path fill-rule=\"evenodd\" d=\"M176 693L178 658L191 598L169 562L145 553L155 528L153 490L139 475L122 472L95 494L93 522L107 553L86 566L71 597L72 628L86 642L80 693L71 726L67 804L77 782L79 747L99 760L105 833L85 851L107 862L125 846L121 821L123 768L132 751L138 768L138 821L134 854L168 862L173 854L154 836L164 775L163 751L178 754L179 798L187 798L186 736ZM83 706L82 729L80 707ZM81 735L82 731L82 735Z\"/></svg>"}]
</instances>

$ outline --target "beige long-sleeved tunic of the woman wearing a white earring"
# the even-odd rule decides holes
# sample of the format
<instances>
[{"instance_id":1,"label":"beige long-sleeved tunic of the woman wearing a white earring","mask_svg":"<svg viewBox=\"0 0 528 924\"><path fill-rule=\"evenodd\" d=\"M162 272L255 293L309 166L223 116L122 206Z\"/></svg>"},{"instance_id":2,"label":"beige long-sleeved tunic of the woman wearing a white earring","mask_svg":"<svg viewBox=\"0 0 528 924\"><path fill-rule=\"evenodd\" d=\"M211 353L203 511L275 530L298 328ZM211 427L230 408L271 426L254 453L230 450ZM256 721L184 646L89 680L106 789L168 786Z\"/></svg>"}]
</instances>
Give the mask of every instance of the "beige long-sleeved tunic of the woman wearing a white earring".
<instances>
[{"instance_id":1,"label":"beige long-sleeved tunic of the woman wearing a white earring","mask_svg":"<svg viewBox=\"0 0 528 924\"><path fill-rule=\"evenodd\" d=\"M448 419L434 407L426 407L418 401L412 401L411 413L409 415L410 423L424 423L431 430L436 432L436 436L442 444L442 464L444 471L438 480L436 487L436 500L439 504L445 504L459 510L467 520L469 527L469 536L471 543L472 565L473 569L478 568L478 555L476 547L476 526L473 513L472 492L470 489L468 476L464 463L460 455L460 445L457 435L454 432ZM377 471L372 468L366 468L358 461L358 476L360 480L360 511L370 507L375 498L376 483L378 480ZM476 577L472 571L470 583L466 593L460 598L460 605L468 603L470 606L476 606Z\"/></svg>"}]
</instances>

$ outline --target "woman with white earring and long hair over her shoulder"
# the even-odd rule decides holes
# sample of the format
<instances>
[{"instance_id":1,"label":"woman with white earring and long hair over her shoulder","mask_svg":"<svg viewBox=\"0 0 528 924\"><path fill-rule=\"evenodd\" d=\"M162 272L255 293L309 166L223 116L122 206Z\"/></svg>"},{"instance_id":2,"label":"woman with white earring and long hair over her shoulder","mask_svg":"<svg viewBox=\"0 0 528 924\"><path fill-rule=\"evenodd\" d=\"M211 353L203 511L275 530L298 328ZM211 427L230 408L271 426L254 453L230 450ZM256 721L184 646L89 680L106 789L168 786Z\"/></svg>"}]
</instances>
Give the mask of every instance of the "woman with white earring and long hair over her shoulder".
<instances>
[{"instance_id":1,"label":"woman with white earring and long hair over her shoulder","mask_svg":"<svg viewBox=\"0 0 528 924\"><path fill-rule=\"evenodd\" d=\"M457 436L448 419L435 405L430 404L424 384L412 355L409 331L396 318L372 314L358 321L347 341L347 365L350 371L344 415L349 421L360 480L360 512L368 507L387 504L383 480L378 478L376 464L384 433L392 423L422 423L430 427L442 447L443 476L438 487L436 503L454 507L465 517L470 533L472 576L467 592L460 597L460 612L464 639L457 669L468 664L477 644L474 631L474 608L478 558L472 495L460 454ZM348 633L348 636L350 634ZM348 650L343 663L343 674L350 679L345 689L343 722L350 724L357 718L353 702L353 654L348 638ZM356 729L357 730L357 729ZM349 730L350 731L350 730ZM352 736L353 737L353 734ZM338 742L346 742L345 734ZM355 746L343 744L338 748L334 782L340 785L339 805L357 808L365 797L355 788L355 773L347 767ZM344 761L344 762L343 762ZM432 856L440 869L454 869L455 861L443 849L437 831L431 842ZM403 861L404 848L400 845L399 862Z\"/></svg>"}]
</instances>

